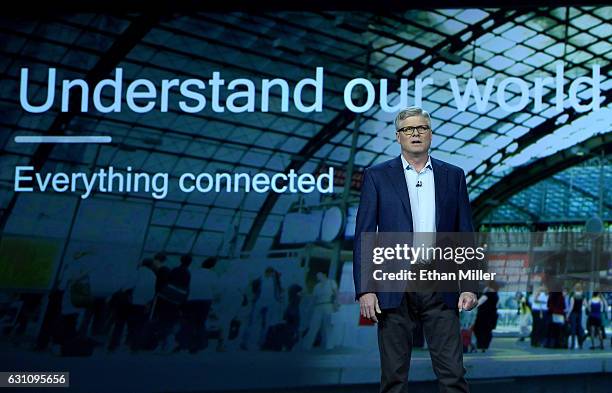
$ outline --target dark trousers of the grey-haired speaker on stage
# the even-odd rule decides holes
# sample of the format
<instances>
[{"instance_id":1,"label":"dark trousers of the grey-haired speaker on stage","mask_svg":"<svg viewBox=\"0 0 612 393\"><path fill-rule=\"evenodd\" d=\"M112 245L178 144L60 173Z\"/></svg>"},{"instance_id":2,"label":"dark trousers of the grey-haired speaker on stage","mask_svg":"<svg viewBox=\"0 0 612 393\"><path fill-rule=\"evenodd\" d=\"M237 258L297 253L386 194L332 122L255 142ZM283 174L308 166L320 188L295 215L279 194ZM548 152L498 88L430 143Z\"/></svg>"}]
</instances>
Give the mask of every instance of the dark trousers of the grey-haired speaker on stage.
<instances>
[{"instance_id":1,"label":"dark trousers of the grey-haired speaker on stage","mask_svg":"<svg viewBox=\"0 0 612 393\"><path fill-rule=\"evenodd\" d=\"M417 321L423 324L434 372L442 393L469 392L464 378L459 312L438 293L407 293L396 309L378 319L381 393L405 393Z\"/></svg>"}]
</instances>

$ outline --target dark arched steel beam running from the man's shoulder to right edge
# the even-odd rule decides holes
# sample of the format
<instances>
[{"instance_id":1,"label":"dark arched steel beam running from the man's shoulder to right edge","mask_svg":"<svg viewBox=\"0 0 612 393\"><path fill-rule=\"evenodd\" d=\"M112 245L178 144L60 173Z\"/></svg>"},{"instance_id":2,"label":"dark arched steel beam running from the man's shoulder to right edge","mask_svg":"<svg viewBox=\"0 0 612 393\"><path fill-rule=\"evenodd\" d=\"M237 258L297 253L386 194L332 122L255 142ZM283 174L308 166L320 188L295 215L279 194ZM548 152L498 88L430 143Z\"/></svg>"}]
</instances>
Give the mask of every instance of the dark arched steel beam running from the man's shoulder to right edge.
<instances>
[{"instance_id":1,"label":"dark arched steel beam running from the man's shoulder to right edge","mask_svg":"<svg viewBox=\"0 0 612 393\"><path fill-rule=\"evenodd\" d=\"M497 183L489 187L489 189L480 194L472 202L476 228L480 226L484 218L493 209L517 192L564 169L592 158L589 154L582 156L574 154L574 147L590 152L601 152L603 150L605 154L609 154L612 152L612 132L595 135L565 150L516 168L508 176L499 179Z\"/></svg>"}]
</instances>

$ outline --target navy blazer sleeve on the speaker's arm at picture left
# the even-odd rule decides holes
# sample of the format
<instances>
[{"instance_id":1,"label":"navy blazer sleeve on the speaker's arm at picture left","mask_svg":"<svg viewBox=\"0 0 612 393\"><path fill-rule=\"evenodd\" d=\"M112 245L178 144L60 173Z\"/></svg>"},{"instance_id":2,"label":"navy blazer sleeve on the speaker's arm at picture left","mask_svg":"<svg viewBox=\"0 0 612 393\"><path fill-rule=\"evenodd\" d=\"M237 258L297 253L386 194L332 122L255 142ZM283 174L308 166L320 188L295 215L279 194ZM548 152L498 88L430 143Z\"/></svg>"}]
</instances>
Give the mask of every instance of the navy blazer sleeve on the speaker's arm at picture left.
<instances>
[{"instance_id":1,"label":"navy blazer sleeve on the speaker's arm at picture left","mask_svg":"<svg viewBox=\"0 0 612 393\"><path fill-rule=\"evenodd\" d=\"M372 179L370 170L366 169L363 173L363 183L361 185L361 197L359 199L359 209L357 210L357 221L355 223L355 237L353 245L353 280L355 283L355 300L366 293L361 287L361 253L362 253L362 234L364 232L376 232L378 225L378 192Z\"/></svg>"}]
</instances>

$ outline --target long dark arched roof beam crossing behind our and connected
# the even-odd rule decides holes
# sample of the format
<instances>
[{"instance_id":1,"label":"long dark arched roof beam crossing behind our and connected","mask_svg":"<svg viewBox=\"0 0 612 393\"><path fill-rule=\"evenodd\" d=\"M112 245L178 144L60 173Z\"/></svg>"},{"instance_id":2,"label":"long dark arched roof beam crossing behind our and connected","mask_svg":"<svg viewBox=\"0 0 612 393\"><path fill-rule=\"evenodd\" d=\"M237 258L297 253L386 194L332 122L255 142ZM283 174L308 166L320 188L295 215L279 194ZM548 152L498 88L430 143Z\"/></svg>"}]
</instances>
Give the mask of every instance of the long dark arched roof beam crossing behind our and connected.
<instances>
[{"instance_id":1,"label":"long dark arched roof beam crossing behind our and connected","mask_svg":"<svg viewBox=\"0 0 612 393\"><path fill-rule=\"evenodd\" d=\"M521 9L516 11L508 11L508 10L498 10L491 13L487 18L484 18L480 22L470 25L465 28L463 31L458 32L454 36L450 37L448 40L442 41L437 45L434 45L430 50L426 51L424 54L415 59L414 63L409 63L401 67L395 72L395 79L390 79L389 89L388 91L397 90L400 87L401 78L410 78L411 76L419 75L421 72L431 67L436 61L439 59L439 51L449 47L449 50L452 52L459 52L463 48L470 45L470 43L487 32L503 25L508 21L508 18L516 18L519 15L528 12L527 9ZM485 24L493 21L491 26L488 26L486 29L484 27ZM469 40L461 41L459 37L462 37L465 34L471 33ZM430 59L425 61L428 57ZM414 65L413 65L414 64ZM407 73L406 71L412 67L412 71ZM375 89L378 91L378 89ZM378 98L378 97L377 97ZM321 130L314 135L308 143L300 150L299 153L295 155L295 158L291 160L289 165L285 168L285 172L290 171L291 169L298 170L302 164L310 157L312 157L321 147L325 146L325 144L329 143L329 141L336 135L338 132L342 131L354 120L355 113L351 112L348 109L345 109L338 113L336 117L334 117L328 124L321 127ZM264 201L259 213L255 217L253 221L253 225L251 226L251 230L246 236L244 244L242 246L243 251L250 251L255 246L255 242L257 241L257 237L264 226L268 214L274 208L276 201L279 198L279 194L277 193L269 193Z\"/></svg>"}]
</instances>

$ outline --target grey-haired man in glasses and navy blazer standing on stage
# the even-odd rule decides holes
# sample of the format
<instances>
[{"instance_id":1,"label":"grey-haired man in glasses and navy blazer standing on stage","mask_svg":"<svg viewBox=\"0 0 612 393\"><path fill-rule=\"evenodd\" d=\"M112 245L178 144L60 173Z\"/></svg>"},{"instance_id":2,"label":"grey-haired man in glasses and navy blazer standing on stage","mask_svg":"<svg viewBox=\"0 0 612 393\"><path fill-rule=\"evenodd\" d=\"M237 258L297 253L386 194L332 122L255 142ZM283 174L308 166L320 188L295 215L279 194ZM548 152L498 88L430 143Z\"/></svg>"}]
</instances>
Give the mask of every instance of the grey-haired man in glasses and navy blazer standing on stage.
<instances>
[{"instance_id":1,"label":"grey-haired man in glasses and navy blazer standing on stage","mask_svg":"<svg viewBox=\"0 0 612 393\"><path fill-rule=\"evenodd\" d=\"M381 393L404 392L412 334L423 324L440 392L469 392L464 378L458 310L475 307L475 283L461 294L378 292L362 289L361 237L364 232L473 232L465 175L461 168L429 156L429 114L419 107L395 119L401 154L367 168L357 212L353 275L362 316L378 323Z\"/></svg>"}]
</instances>

